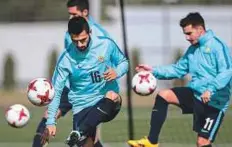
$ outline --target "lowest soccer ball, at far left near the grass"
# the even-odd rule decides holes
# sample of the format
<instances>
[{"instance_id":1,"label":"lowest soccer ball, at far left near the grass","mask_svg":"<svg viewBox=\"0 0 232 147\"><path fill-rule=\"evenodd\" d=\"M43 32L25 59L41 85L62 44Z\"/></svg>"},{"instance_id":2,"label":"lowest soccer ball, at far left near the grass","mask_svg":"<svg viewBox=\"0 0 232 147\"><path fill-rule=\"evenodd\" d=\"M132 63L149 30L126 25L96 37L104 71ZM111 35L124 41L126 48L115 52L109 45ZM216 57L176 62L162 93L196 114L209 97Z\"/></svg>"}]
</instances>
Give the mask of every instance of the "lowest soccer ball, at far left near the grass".
<instances>
[{"instance_id":1,"label":"lowest soccer ball, at far left near the grass","mask_svg":"<svg viewBox=\"0 0 232 147\"><path fill-rule=\"evenodd\" d=\"M30 113L25 106L15 104L6 110L5 118L10 126L14 128L22 128L28 123Z\"/></svg>"}]
</instances>

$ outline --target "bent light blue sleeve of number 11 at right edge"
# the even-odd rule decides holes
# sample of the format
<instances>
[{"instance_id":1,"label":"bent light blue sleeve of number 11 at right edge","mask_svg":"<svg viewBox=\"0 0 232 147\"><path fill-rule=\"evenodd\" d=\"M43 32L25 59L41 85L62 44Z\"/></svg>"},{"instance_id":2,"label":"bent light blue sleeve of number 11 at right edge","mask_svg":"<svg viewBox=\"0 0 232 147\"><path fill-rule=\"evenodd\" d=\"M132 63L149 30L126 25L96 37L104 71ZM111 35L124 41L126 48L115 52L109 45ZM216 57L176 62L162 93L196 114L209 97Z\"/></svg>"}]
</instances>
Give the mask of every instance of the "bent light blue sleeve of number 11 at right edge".
<instances>
[{"instance_id":1,"label":"bent light blue sleeve of number 11 at right edge","mask_svg":"<svg viewBox=\"0 0 232 147\"><path fill-rule=\"evenodd\" d=\"M229 48L222 44L217 44L215 47L216 66L218 68L218 75L207 86L207 90L211 93L224 88L232 77L232 63L229 54Z\"/></svg>"}]
</instances>

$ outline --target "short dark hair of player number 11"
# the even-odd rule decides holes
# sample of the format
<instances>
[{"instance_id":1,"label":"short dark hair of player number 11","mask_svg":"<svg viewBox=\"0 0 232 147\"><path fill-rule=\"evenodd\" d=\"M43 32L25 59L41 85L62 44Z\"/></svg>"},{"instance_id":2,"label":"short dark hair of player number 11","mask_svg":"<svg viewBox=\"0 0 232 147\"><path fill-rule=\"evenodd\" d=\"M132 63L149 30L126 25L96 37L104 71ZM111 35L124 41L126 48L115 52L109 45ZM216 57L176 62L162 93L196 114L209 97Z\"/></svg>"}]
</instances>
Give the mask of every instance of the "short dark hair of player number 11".
<instances>
[{"instance_id":1,"label":"short dark hair of player number 11","mask_svg":"<svg viewBox=\"0 0 232 147\"><path fill-rule=\"evenodd\" d=\"M186 17L180 20L180 26L182 28L188 25L192 25L193 27L202 26L205 29L205 21L198 12L189 13Z\"/></svg>"}]
</instances>

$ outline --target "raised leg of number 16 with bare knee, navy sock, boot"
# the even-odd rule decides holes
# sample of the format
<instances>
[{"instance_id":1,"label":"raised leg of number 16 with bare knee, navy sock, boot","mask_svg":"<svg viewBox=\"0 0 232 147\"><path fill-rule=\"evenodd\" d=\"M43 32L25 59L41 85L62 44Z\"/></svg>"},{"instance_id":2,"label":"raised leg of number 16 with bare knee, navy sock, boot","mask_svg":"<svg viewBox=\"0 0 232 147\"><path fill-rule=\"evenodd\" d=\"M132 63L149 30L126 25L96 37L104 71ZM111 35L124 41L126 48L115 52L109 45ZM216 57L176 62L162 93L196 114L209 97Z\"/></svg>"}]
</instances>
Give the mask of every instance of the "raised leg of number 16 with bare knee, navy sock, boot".
<instances>
[{"instance_id":1,"label":"raised leg of number 16 with bare knee, navy sock, boot","mask_svg":"<svg viewBox=\"0 0 232 147\"><path fill-rule=\"evenodd\" d=\"M71 132L66 143L71 145L75 142L78 145L85 144L85 140L88 137L93 137L89 136L89 134L93 134L92 131L96 130L97 125L114 119L120 111L120 108L121 97L113 91L107 92L105 98L101 99L95 106L89 108L89 110L83 110L81 112L83 114L74 115L74 127L76 130ZM78 119L83 118L83 115L85 115L84 120L82 122L78 121ZM98 147L97 145L99 144L96 144L96 147Z\"/></svg>"}]
</instances>

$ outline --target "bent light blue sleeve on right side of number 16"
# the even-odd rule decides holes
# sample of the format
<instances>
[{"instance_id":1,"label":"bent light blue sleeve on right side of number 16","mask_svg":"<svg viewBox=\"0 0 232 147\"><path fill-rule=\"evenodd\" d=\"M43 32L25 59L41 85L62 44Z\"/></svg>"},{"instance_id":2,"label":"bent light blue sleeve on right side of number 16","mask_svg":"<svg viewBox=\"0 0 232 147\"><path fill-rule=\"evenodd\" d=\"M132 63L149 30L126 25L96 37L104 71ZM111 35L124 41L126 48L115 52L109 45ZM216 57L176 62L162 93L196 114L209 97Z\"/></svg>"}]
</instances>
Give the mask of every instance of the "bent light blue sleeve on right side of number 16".
<instances>
[{"instance_id":1,"label":"bent light blue sleeve on right side of number 16","mask_svg":"<svg viewBox=\"0 0 232 147\"><path fill-rule=\"evenodd\" d=\"M111 48L111 60L112 63L115 65L117 78L120 78L128 72L128 60L114 41L112 41L111 43Z\"/></svg>"}]
</instances>

